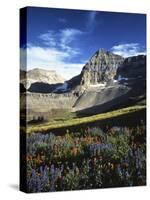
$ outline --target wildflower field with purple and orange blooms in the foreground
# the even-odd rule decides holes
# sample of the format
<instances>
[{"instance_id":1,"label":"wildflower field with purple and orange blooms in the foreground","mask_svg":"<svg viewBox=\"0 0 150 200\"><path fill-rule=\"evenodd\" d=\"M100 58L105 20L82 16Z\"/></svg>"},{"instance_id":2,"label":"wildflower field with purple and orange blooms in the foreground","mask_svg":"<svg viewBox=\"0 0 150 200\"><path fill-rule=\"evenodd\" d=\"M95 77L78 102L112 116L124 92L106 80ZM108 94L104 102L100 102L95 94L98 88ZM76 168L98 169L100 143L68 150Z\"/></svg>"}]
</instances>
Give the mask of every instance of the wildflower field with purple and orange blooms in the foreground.
<instances>
[{"instance_id":1,"label":"wildflower field with purple and orange blooms in the foreground","mask_svg":"<svg viewBox=\"0 0 150 200\"><path fill-rule=\"evenodd\" d=\"M86 131L87 133L87 131ZM28 192L144 185L145 126L27 138Z\"/></svg>"}]
</instances>

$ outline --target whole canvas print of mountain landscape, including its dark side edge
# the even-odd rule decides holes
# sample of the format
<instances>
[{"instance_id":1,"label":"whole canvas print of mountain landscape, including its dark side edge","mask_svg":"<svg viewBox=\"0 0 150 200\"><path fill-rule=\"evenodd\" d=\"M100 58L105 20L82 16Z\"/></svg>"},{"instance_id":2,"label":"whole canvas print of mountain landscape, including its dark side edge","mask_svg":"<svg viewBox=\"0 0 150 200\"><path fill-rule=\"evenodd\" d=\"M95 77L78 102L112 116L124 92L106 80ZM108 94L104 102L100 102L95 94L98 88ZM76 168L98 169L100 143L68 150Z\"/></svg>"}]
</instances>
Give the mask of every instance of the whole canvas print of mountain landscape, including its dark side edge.
<instances>
[{"instance_id":1,"label":"whole canvas print of mountain landscape, including its dark side edge","mask_svg":"<svg viewBox=\"0 0 150 200\"><path fill-rule=\"evenodd\" d=\"M20 190L146 185L146 15L20 10Z\"/></svg>"}]
</instances>

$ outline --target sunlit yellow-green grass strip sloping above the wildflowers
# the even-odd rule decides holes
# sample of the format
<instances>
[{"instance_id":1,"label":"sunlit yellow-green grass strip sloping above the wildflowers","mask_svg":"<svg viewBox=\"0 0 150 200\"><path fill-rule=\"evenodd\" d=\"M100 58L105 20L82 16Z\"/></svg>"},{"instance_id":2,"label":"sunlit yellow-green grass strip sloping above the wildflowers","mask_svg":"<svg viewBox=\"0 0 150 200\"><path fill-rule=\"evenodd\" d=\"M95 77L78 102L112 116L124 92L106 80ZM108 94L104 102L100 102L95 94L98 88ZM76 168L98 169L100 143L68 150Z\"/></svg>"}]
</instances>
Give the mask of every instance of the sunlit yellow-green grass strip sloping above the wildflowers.
<instances>
[{"instance_id":1,"label":"sunlit yellow-green grass strip sloping above the wildflowers","mask_svg":"<svg viewBox=\"0 0 150 200\"><path fill-rule=\"evenodd\" d=\"M135 113L146 108L145 105L135 105L127 108L118 109L115 111L110 111L102 114L97 114L89 117L75 118L75 119L64 119L60 121L51 121L38 125L29 125L27 127L27 133L31 134L33 132L48 132L53 129L67 128L72 126L80 126L83 124L88 124L92 122L98 122L106 119L112 119L119 116L124 116L126 114Z\"/></svg>"}]
</instances>

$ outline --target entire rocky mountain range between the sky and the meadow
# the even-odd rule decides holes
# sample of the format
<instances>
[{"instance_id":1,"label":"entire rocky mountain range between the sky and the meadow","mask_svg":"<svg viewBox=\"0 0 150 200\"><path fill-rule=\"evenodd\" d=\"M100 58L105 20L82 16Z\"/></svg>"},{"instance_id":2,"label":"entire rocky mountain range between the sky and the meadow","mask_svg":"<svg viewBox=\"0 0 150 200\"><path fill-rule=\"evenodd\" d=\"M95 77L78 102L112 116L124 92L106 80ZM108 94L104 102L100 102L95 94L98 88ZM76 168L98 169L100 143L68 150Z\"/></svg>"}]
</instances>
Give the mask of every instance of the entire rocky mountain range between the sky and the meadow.
<instances>
[{"instance_id":1,"label":"entire rocky mountain range between the sky and the meadow","mask_svg":"<svg viewBox=\"0 0 150 200\"><path fill-rule=\"evenodd\" d=\"M61 66L60 66L61 67ZM31 113L69 109L92 115L146 99L146 56L129 58L99 49L81 73L65 81L54 71L34 69L27 77L27 108ZM22 81L23 83L23 81ZM22 91L26 90L22 88Z\"/></svg>"}]
</instances>

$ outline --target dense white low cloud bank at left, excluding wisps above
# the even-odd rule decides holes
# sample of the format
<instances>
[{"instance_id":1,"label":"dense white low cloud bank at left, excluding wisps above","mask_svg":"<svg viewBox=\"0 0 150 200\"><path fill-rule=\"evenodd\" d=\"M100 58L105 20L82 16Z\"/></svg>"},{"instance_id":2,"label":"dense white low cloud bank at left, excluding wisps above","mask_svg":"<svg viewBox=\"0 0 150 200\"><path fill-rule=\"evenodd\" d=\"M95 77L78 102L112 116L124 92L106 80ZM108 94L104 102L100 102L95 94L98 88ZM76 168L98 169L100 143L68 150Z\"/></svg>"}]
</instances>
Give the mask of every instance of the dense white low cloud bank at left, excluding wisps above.
<instances>
[{"instance_id":1,"label":"dense white low cloud bank at left, excluding wisps above","mask_svg":"<svg viewBox=\"0 0 150 200\"><path fill-rule=\"evenodd\" d=\"M60 51L55 48L39 47L30 45L27 49L21 48L23 57L27 55L27 70L42 68L55 70L65 79L70 79L81 72L83 63L68 63L66 58L70 54L66 51ZM21 68L25 70L25 59L21 60Z\"/></svg>"}]
</instances>

